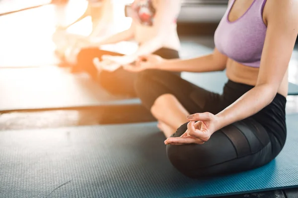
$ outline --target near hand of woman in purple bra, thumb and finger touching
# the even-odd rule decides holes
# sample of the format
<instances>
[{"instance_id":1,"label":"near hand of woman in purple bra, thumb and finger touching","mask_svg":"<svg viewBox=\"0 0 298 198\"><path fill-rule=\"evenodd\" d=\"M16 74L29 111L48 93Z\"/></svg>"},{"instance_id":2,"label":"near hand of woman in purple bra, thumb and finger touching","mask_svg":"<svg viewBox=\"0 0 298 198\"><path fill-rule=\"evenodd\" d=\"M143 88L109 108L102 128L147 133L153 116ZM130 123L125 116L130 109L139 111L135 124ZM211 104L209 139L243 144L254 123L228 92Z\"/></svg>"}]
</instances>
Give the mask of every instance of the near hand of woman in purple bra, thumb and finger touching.
<instances>
[{"instance_id":1,"label":"near hand of woman in purple bra, thumb and finger touching","mask_svg":"<svg viewBox=\"0 0 298 198\"><path fill-rule=\"evenodd\" d=\"M164 144L204 144L216 131L218 125L217 117L209 112L195 113L187 116L187 119L190 122L187 124L186 132L180 137L166 139Z\"/></svg>"}]
</instances>

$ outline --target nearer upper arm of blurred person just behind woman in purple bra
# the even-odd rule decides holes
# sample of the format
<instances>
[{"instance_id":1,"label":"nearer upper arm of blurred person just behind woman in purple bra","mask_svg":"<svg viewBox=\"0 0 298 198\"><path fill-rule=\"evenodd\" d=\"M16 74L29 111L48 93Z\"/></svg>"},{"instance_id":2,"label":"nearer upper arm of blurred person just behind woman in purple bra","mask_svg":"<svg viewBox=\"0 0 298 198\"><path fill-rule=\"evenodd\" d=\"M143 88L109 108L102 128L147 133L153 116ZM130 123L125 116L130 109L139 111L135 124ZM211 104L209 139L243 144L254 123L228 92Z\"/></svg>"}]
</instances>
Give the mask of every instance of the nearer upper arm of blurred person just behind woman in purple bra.
<instances>
[{"instance_id":1,"label":"nearer upper arm of blurred person just behind woman in purple bra","mask_svg":"<svg viewBox=\"0 0 298 198\"><path fill-rule=\"evenodd\" d=\"M180 8L181 0L158 0L153 23L157 33L166 34L168 27L176 21Z\"/></svg>"}]
</instances>

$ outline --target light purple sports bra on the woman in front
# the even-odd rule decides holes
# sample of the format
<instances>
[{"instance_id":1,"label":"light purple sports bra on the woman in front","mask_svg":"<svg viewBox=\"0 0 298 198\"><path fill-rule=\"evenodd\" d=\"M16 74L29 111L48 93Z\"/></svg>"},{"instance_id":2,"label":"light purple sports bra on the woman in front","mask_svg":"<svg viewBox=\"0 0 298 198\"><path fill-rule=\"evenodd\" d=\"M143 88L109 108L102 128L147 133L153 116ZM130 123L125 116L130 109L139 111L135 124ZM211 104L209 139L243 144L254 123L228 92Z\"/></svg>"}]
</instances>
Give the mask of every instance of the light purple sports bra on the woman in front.
<instances>
[{"instance_id":1,"label":"light purple sports bra on the woman in front","mask_svg":"<svg viewBox=\"0 0 298 198\"><path fill-rule=\"evenodd\" d=\"M254 0L247 11L230 22L231 0L214 35L216 48L229 58L249 67L260 67L267 27L263 21L266 0Z\"/></svg>"}]
</instances>

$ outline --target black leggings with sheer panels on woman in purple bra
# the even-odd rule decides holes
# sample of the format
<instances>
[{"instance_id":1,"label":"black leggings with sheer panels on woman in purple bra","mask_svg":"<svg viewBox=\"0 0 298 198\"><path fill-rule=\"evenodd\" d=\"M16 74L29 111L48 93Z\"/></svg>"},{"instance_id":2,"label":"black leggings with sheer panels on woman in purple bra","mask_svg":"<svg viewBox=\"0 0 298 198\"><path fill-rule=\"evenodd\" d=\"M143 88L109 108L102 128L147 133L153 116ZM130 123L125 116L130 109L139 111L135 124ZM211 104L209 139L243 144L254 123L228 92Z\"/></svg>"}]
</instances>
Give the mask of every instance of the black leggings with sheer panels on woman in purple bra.
<instances>
[{"instance_id":1,"label":"black leggings with sheer panels on woman in purple bra","mask_svg":"<svg viewBox=\"0 0 298 198\"><path fill-rule=\"evenodd\" d=\"M140 72L136 80L137 94L147 108L159 96L172 94L191 114L216 114L251 88L228 81L223 95L219 95L160 70ZM192 178L263 166L273 160L285 144L285 105L286 98L277 94L261 111L215 132L203 145L167 145L168 158L174 167ZM180 126L172 137L181 136L186 129L187 123Z\"/></svg>"}]
</instances>

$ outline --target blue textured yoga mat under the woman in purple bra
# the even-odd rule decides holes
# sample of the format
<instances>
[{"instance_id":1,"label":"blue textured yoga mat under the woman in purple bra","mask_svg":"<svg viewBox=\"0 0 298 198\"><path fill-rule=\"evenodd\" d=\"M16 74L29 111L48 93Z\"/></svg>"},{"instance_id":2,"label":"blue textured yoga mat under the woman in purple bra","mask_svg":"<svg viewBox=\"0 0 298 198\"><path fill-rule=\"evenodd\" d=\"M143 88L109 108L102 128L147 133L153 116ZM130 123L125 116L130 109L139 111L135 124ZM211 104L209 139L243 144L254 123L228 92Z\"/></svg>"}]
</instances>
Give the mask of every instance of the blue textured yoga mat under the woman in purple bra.
<instances>
[{"instance_id":1,"label":"blue textured yoga mat under the woman in purple bra","mask_svg":"<svg viewBox=\"0 0 298 198\"><path fill-rule=\"evenodd\" d=\"M0 132L0 197L205 198L298 186L298 114L269 164L194 180L168 161L155 123Z\"/></svg>"}]
</instances>

